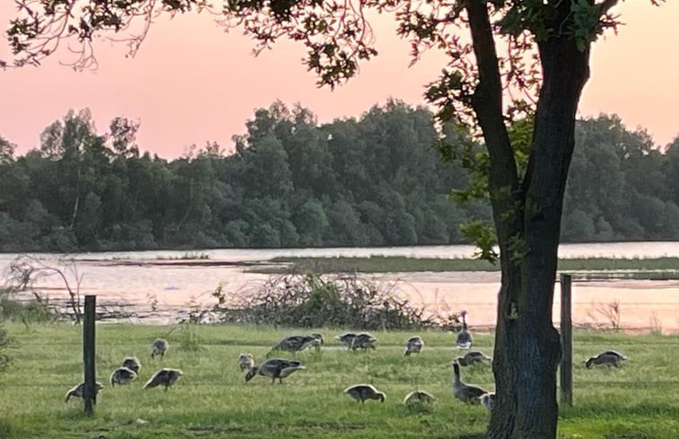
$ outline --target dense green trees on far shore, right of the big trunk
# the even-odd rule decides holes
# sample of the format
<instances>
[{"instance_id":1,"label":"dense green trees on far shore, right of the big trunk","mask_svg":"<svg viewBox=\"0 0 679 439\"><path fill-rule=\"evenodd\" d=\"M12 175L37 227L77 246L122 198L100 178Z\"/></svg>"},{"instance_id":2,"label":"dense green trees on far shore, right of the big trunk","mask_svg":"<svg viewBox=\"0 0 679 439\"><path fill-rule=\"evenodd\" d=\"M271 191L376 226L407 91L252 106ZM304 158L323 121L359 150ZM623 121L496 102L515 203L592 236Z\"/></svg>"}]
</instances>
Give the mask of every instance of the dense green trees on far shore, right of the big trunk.
<instances>
[{"instance_id":1,"label":"dense green trees on far shore, right of the big trunk","mask_svg":"<svg viewBox=\"0 0 679 439\"><path fill-rule=\"evenodd\" d=\"M665 154L619 118L581 120L564 200L565 241L679 239L679 138Z\"/></svg>"}]
</instances>

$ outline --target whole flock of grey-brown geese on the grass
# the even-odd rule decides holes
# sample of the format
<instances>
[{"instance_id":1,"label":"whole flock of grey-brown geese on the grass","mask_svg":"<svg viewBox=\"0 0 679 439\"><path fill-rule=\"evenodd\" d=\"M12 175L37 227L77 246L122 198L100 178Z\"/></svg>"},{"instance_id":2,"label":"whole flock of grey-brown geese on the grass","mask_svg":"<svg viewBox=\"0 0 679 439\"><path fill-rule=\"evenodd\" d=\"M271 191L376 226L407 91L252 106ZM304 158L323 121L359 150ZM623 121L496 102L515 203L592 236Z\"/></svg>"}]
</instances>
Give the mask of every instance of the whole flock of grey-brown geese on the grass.
<instances>
[{"instance_id":1,"label":"whole flock of grey-brown geese on the grass","mask_svg":"<svg viewBox=\"0 0 679 439\"><path fill-rule=\"evenodd\" d=\"M457 332L456 344L459 349L466 349L467 352L464 356L457 356L452 361L453 366L453 382L452 382L452 393L456 399L468 404L481 404L489 411L495 408L496 398L495 393L492 391L486 391L480 386L474 384L468 384L463 382L460 377L460 366L469 366L472 364L492 364L492 357L486 356L481 351L468 350L472 347L474 343L474 337L472 332L469 330L466 324L466 314L463 311L460 313L462 317L462 327ZM367 351L368 349L376 349L375 344L378 339L375 336L367 332L345 332L344 334L335 337L340 343L344 344L347 349L357 350L361 349ZM245 382L249 382L257 375L262 375L271 378L271 383L274 384L276 380L279 383L283 383L283 378L287 378L292 373L300 370L304 370L305 366L301 364L298 360L289 360L283 358L270 358L274 353L278 352L288 352L294 356L297 352L305 349L313 348L315 350L320 350L321 346L324 345L325 340L323 335L320 333L312 333L309 335L296 335L291 337L283 338L279 341L271 350L266 354L266 361L262 364L256 365L255 358L252 354L240 354L238 359L238 364L241 372L245 373ZM168 342L165 339L157 338L152 342L151 346L151 357L155 356L163 357L165 352L169 347ZM405 356L411 356L413 354L420 354L422 352L422 347L424 347L424 340L420 336L414 336L408 338L405 342ZM594 365L608 365L620 367L622 362L627 359L627 356L623 356L619 352L614 350L605 350L599 353L597 356L590 357L586 362L585 366L589 369ZM127 356L120 367L113 371L110 375L111 387L116 385L125 385L134 382L139 376L139 372L142 368L139 359L135 356ZM151 389L153 387L165 386L165 391L167 391L183 374L182 371L178 369L162 368L156 373L153 373L152 377L148 382L144 384L144 389ZM100 382L96 383L99 392L103 389L103 384ZM65 401L67 402L72 397L83 398L84 393L84 382L81 382L73 389L66 393ZM365 404L365 401L374 399L384 402L387 399L387 395L383 391L379 391L376 387L371 384L355 384L344 390L344 393L360 402ZM430 405L436 398L427 391L417 390L411 391L405 395L404 404L408 407L412 407L414 404L418 405Z\"/></svg>"}]
</instances>

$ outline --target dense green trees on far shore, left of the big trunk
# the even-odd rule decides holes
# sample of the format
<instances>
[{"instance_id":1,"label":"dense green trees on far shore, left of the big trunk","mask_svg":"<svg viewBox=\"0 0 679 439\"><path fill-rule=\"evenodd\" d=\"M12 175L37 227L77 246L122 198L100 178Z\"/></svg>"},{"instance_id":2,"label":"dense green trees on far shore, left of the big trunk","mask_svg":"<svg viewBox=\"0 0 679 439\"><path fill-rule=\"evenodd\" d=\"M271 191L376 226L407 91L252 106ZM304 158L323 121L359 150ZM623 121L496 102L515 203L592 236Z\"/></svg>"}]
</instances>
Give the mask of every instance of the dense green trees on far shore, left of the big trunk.
<instances>
[{"instance_id":1,"label":"dense green trees on far shore, left of the big trunk","mask_svg":"<svg viewBox=\"0 0 679 439\"><path fill-rule=\"evenodd\" d=\"M318 126L309 110L257 110L235 152L139 155L135 124L99 135L89 112L0 166L0 250L293 247L458 242L465 172L440 162L431 114L391 102ZM121 129L120 126L128 129Z\"/></svg>"}]
</instances>

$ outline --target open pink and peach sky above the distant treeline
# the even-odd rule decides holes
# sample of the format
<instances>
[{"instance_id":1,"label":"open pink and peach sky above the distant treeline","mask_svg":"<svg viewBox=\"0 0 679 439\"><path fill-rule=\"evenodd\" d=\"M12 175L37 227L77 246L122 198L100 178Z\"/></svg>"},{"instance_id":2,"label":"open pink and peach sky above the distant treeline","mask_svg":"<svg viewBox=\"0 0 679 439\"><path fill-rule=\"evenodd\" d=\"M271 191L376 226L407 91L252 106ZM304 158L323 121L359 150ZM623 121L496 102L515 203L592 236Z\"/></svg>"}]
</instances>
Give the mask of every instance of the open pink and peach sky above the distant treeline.
<instances>
[{"instance_id":1,"label":"open pink and peach sky above the distant treeline","mask_svg":"<svg viewBox=\"0 0 679 439\"><path fill-rule=\"evenodd\" d=\"M618 113L628 127L646 127L666 145L679 134L679 2L656 8L631 0L617 12L626 25L596 43L580 115ZM12 13L13 2L0 2L0 22ZM250 40L224 33L209 15L159 21L134 59L125 57L123 44L98 42L95 72L60 66L69 59L65 51L38 68L0 71L0 136L23 153L67 110L89 107L100 132L115 116L140 119L138 144L171 158L208 140L231 147L254 110L276 99L300 102L321 122L359 116L389 97L422 103L422 85L439 74L443 58L431 53L408 68L408 43L395 36L392 22L375 24L379 57L331 92L316 87L300 62L300 45L282 42L252 57ZM3 40L0 58L7 53Z\"/></svg>"}]
</instances>

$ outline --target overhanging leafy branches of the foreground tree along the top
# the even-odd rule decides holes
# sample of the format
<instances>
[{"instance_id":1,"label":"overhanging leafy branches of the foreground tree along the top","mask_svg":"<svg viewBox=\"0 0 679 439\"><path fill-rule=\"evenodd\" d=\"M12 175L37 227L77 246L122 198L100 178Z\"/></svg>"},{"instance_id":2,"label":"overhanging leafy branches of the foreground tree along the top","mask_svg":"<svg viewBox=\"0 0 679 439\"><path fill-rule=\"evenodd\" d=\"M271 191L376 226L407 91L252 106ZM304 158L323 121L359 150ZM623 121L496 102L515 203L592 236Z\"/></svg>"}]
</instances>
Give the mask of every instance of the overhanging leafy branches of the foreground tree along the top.
<instances>
[{"instance_id":1,"label":"overhanging leafy branches of the foreground tree along the top","mask_svg":"<svg viewBox=\"0 0 679 439\"><path fill-rule=\"evenodd\" d=\"M152 21L165 14L191 11L212 13L227 28L239 27L257 42L256 52L282 37L307 48L309 70L319 85L334 87L358 71L361 60L378 55L369 18L391 13L397 33L411 42L413 62L436 48L448 56L440 78L426 97L441 119L473 116L470 100L477 81L474 48L466 38L466 6L471 0L15 0L16 17L6 32L13 49L2 66L38 65L65 41L77 41L74 68L96 67L92 41L98 36L123 34L134 55ZM481 0L479 0L481 1ZM650 0L657 4L662 0ZM554 34L572 36L581 48L618 20L611 13L618 0L489 0L492 31L503 55L499 57L508 116L526 115L540 85L535 42ZM572 19L562 22L562 9ZM117 40L120 38L117 36Z\"/></svg>"}]
</instances>

